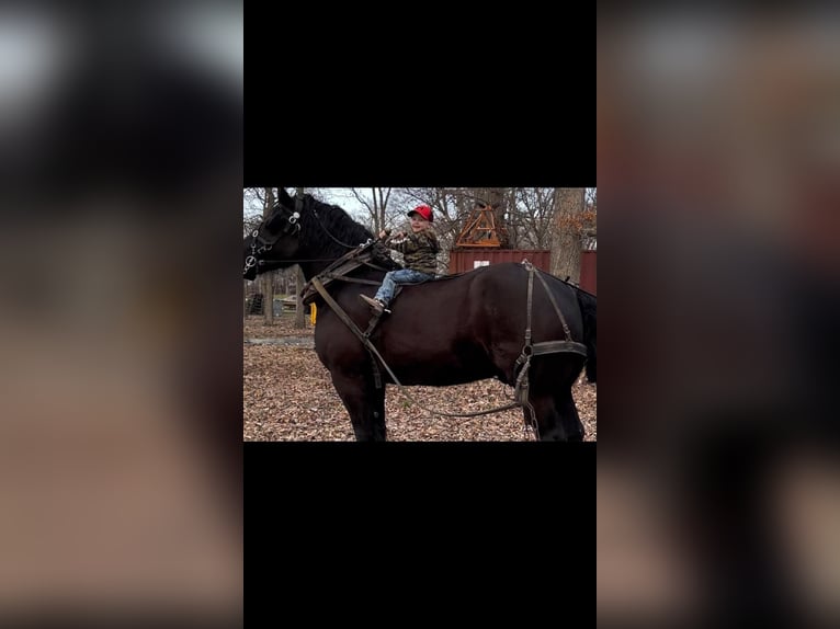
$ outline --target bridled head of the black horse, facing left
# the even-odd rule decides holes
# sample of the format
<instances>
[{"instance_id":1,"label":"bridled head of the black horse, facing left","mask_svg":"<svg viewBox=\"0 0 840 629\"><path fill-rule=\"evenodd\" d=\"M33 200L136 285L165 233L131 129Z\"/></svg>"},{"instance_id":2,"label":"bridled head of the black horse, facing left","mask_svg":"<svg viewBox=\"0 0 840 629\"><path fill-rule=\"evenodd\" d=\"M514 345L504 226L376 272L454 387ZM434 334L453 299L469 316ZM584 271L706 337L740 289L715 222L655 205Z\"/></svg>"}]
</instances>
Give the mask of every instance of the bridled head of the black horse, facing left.
<instances>
[{"instance_id":1,"label":"bridled head of the black horse, facing left","mask_svg":"<svg viewBox=\"0 0 840 629\"><path fill-rule=\"evenodd\" d=\"M280 201L272 213L245 239L242 277L253 279L260 273L291 266L300 247L300 214L295 201L280 188Z\"/></svg>"}]
</instances>

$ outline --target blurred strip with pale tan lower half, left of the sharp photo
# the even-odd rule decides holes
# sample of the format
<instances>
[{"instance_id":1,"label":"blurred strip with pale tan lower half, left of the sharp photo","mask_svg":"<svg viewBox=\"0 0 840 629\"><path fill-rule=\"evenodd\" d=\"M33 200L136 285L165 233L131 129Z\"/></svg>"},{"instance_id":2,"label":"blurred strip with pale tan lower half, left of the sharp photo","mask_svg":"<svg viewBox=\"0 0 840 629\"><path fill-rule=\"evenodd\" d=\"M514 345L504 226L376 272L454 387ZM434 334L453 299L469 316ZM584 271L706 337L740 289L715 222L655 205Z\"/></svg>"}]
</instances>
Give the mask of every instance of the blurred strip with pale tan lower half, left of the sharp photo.
<instances>
[{"instance_id":1,"label":"blurred strip with pale tan lower half, left of the sharp photo","mask_svg":"<svg viewBox=\"0 0 840 629\"><path fill-rule=\"evenodd\" d=\"M242 25L0 9L0 619L241 624Z\"/></svg>"}]
</instances>

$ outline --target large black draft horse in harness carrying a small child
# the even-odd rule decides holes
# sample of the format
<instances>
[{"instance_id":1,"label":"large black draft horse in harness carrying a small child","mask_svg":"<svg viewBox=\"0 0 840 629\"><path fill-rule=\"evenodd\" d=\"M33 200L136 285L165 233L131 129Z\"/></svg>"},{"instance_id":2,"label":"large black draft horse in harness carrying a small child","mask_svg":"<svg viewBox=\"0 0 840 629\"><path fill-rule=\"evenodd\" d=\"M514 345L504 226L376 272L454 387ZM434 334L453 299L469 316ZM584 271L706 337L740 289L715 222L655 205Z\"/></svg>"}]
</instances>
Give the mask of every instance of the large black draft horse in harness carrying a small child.
<instances>
[{"instance_id":1,"label":"large black draft horse in harness carrying a small child","mask_svg":"<svg viewBox=\"0 0 840 629\"><path fill-rule=\"evenodd\" d=\"M372 239L373 235L340 207L308 194L293 198L280 188L279 203L272 214L256 230L256 236L251 233L245 239L243 276L253 279L258 273L299 264L309 281L334 260ZM376 259L378 264L361 265L350 275L354 279L378 283L384 268L397 267L384 248ZM571 387L584 364L589 381L595 381L597 300L553 275L536 273L542 279L531 277L532 343L537 346L541 342L563 341L569 332L576 342L574 345L586 348L534 352L527 373L527 402L533 408L541 439L582 441L583 426ZM371 311L359 299L359 294L373 296L374 283L337 281L327 287L329 295L362 331L368 327ZM556 306L546 295L546 287ZM447 386L496 377L514 386L523 368L527 295L529 270L514 263L404 286L391 302L393 312L382 317L370 341L402 385ZM385 441L384 385L393 382L393 378L381 365L374 364L376 358L359 335L319 295L316 304L315 348L332 376L356 439ZM375 375L375 371L379 370L382 380L377 387L378 373ZM523 412L530 422L530 410Z\"/></svg>"}]
</instances>

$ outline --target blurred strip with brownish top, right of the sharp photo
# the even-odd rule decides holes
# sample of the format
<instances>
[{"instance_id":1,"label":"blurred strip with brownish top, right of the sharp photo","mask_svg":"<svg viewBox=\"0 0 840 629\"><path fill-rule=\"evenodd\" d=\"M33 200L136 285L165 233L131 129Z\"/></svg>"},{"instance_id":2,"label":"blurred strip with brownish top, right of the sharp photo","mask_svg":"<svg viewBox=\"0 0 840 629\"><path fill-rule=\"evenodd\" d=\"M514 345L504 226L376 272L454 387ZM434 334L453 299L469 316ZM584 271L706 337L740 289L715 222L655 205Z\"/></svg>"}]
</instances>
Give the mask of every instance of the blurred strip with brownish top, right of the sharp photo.
<instances>
[{"instance_id":1,"label":"blurred strip with brownish top, right of the sharp photo","mask_svg":"<svg viewBox=\"0 0 840 629\"><path fill-rule=\"evenodd\" d=\"M839 19L599 7L601 626L840 616Z\"/></svg>"}]
</instances>

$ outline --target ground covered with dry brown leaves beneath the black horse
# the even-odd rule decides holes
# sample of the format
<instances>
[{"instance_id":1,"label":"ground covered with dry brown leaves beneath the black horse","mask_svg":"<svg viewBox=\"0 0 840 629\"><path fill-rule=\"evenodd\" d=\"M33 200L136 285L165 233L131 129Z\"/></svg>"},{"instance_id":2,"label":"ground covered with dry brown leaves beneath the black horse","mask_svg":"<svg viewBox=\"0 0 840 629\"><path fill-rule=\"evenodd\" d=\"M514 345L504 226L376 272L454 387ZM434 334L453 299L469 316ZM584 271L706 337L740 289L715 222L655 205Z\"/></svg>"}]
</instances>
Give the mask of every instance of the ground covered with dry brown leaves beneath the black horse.
<instances>
[{"instance_id":1,"label":"ground covered with dry brown leaves beneath the black horse","mask_svg":"<svg viewBox=\"0 0 840 629\"><path fill-rule=\"evenodd\" d=\"M313 347L314 329L295 329L294 316L245 320L243 439L246 442L355 441L350 418L332 387L329 371ZM473 412L511 401L513 389L495 379L455 387L410 387L424 407ZM580 377L572 388L586 441L598 438L597 385ZM443 418L418 409L395 386L385 393L389 441L512 442L533 439L520 409L478 418Z\"/></svg>"}]
</instances>

